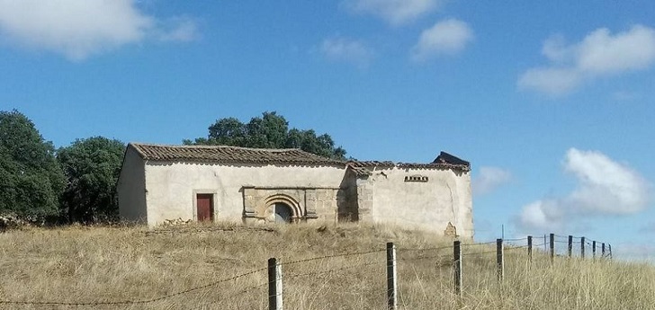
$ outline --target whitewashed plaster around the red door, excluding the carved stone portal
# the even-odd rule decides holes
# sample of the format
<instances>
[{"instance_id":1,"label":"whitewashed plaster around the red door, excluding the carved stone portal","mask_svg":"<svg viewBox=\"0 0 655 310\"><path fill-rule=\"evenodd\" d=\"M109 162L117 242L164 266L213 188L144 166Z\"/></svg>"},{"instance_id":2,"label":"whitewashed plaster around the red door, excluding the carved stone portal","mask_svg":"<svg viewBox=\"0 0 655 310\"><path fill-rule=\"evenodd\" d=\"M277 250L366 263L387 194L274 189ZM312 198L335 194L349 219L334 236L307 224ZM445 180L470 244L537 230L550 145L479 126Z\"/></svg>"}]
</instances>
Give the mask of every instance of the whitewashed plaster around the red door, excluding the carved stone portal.
<instances>
[{"instance_id":1,"label":"whitewashed plaster around the red door, excluding the carved stone portal","mask_svg":"<svg viewBox=\"0 0 655 310\"><path fill-rule=\"evenodd\" d=\"M148 162L148 225L178 217L196 218L195 196L198 193L214 194L216 220L241 221L244 186L338 189L344 175L345 167Z\"/></svg>"}]
</instances>

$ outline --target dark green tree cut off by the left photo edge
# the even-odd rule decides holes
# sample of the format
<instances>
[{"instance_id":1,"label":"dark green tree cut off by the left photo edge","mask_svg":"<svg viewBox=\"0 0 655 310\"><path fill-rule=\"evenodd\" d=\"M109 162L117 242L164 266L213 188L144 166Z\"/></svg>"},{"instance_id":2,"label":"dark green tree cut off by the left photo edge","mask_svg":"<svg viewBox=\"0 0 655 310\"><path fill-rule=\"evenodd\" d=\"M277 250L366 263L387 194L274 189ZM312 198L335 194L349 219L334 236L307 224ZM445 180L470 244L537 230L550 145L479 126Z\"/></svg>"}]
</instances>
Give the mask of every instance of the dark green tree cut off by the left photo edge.
<instances>
[{"instance_id":1,"label":"dark green tree cut off by the left photo edge","mask_svg":"<svg viewBox=\"0 0 655 310\"><path fill-rule=\"evenodd\" d=\"M64 174L55 147L19 111L0 111L0 213L31 220L58 214Z\"/></svg>"}]
</instances>

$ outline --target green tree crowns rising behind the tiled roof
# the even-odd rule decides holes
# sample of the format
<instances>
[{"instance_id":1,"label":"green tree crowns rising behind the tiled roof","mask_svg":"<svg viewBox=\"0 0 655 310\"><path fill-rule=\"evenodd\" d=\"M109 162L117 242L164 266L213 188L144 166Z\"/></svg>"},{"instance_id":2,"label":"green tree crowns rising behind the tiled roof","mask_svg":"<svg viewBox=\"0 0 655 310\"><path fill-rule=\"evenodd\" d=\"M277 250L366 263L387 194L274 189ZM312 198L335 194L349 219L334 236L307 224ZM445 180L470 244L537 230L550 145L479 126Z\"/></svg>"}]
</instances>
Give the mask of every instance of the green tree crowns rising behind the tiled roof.
<instances>
[{"instance_id":1,"label":"green tree crowns rising behind the tiled roof","mask_svg":"<svg viewBox=\"0 0 655 310\"><path fill-rule=\"evenodd\" d=\"M336 147L327 134L316 135L313 129L289 129L289 122L276 112L264 112L247 124L235 118L216 120L207 137L184 140L187 145L222 145L260 148L301 148L325 157L344 159L345 149Z\"/></svg>"}]
</instances>

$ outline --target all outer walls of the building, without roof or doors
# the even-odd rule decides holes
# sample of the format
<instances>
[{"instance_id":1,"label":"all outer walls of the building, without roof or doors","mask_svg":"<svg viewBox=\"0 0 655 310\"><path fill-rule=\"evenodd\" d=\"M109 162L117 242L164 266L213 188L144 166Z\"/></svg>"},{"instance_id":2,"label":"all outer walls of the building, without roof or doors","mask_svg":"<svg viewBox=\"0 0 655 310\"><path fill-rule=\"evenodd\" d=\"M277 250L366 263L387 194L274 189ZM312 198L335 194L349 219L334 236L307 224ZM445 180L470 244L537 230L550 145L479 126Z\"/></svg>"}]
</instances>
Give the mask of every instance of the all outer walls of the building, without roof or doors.
<instances>
[{"instance_id":1,"label":"all outer walls of the building, without roof or doors","mask_svg":"<svg viewBox=\"0 0 655 310\"><path fill-rule=\"evenodd\" d=\"M195 220L196 195L211 193L215 220L271 220L270 207L283 202L296 222L361 221L473 234L471 176L451 169L377 168L356 176L345 167L144 163L129 149L118 186L121 217L150 226Z\"/></svg>"}]
</instances>

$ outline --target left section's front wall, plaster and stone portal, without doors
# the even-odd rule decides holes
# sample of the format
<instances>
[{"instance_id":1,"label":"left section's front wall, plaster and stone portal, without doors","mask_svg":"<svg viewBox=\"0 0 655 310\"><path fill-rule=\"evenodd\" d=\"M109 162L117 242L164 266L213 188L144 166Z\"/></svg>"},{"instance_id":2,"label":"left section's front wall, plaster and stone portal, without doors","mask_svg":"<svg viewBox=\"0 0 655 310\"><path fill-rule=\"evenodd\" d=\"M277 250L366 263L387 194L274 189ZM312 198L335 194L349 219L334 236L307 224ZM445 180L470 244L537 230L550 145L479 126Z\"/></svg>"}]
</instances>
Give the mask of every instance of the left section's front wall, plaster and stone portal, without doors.
<instances>
[{"instance_id":1,"label":"left section's front wall, plaster and stone portal, without doors","mask_svg":"<svg viewBox=\"0 0 655 310\"><path fill-rule=\"evenodd\" d=\"M204 191L215 192L215 220L261 217L253 207L257 201L282 194L297 200L307 218L334 222L345 167L149 162L146 174L151 226L178 217L195 219L194 192Z\"/></svg>"}]
</instances>

